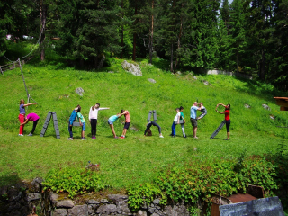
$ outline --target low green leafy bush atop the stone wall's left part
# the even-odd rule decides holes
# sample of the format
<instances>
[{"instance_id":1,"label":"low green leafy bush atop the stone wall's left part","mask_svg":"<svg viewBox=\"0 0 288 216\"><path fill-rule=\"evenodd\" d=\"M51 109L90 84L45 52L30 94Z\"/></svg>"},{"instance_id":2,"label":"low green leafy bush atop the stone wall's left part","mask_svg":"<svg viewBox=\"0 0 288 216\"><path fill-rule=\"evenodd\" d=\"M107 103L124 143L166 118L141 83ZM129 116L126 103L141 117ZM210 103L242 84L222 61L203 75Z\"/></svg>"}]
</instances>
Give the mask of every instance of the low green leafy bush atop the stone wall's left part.
<instances>
[{"instance_id":1,"label":"low green leafy bush atop the stone wall's left part","mask_svg":"<svg viewBox=\"0 0 288 216\"><path fill-rule=\"evenodd\" d=\"M67 192L73 198L76 194L98 192L105 188L103 179L90 169L63 168L52 169L45 177L44 190Z\"/></svg>"}]
</instances>

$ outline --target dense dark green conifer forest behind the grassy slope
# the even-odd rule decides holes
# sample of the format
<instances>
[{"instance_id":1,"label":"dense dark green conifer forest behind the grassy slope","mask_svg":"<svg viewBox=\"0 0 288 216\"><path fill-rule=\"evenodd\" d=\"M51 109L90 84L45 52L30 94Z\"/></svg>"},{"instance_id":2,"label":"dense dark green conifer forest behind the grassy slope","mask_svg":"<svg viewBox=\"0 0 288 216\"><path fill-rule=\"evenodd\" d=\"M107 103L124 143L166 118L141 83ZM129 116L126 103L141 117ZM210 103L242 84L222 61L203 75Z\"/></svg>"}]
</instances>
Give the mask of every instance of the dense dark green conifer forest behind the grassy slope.
<instances>
[{"instance_id":1,"label":"dense dark green conifer forest behind the grassy slope","mask_svg":"<svg viewBox=\"0 0 288 216\"><path fill-rule=\"evenodd\" d=\"M287 0L2 0L0 9L0 57L6 35L27 35L42 60L52 45L94 68L105 56L158 57L171 72L218 68L288 90Z\"/></svg>"}]
</instances>

